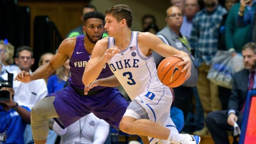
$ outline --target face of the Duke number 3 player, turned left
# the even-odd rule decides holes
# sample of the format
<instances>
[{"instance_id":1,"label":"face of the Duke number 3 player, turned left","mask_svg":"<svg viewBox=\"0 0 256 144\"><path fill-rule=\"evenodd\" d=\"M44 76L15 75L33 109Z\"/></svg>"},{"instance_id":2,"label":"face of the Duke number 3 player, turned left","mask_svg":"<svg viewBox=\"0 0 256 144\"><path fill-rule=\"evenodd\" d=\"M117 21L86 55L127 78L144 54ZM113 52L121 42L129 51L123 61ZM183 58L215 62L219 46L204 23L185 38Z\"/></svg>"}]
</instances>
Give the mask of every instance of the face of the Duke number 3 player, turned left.
<instances>
[{"instance_id":1,"label":"face of the Duke number 3 player, turned left","mask_svg":"<svg viewBox=\"0 0 256 144\"><path fill-rule=\"evenodd\" d=\"M105 17L105 29L108 33L108 36L114 37L116 32L121 31L121 24L117 22L117 19L113 17L111 14L107 14Z\"/></svg>"}]
</instances>

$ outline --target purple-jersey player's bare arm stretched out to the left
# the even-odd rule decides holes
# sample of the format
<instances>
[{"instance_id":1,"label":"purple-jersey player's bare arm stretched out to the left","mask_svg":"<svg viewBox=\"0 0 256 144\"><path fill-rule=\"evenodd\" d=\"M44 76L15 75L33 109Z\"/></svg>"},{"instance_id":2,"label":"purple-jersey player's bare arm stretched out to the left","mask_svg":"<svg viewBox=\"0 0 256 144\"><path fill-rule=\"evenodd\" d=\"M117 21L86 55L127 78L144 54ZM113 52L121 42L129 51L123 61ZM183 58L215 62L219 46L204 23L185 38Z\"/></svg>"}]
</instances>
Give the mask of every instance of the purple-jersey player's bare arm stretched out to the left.
<instances>
[{"instance_id":1,"label":"purple-jersey player's bare arm stretched out to the left","mask_svg":"<svg viewBox=\"0 0 256 144\"><path fill-rule=\"evenodd\" d=\"M42 79L53 73L59 66L63 65L68 59L68 55L71 55L75 47L76 38L66 38L59 46L58 52L53 58L39 68L37 68L32 74L22 71L14 80L21 82L30 82L32 80Z\"/></svg>"}]
</instances>

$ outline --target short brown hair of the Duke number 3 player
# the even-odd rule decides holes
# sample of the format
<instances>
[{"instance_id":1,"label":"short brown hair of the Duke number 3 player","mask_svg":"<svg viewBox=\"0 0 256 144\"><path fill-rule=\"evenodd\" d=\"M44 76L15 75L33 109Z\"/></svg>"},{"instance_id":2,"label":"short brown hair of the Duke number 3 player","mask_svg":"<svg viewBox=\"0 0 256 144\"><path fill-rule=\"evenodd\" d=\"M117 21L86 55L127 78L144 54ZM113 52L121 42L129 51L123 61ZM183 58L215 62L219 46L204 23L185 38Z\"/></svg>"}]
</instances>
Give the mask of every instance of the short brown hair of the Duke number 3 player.
<instances>
[{"instance_id":1,"label":"short brown hair of the Duke number 3 player","mask_svg":"<svg viewBox=\"0 0 256 144\"><path fill-rule=\"evenodd\" d=\"M127 5L114 5L107 8L105 14L111 14L113 17L117 19L117 21L121 21L126 19L126 24L130 28L132 26L132 10Z\"/></svg>"}]
</instances>

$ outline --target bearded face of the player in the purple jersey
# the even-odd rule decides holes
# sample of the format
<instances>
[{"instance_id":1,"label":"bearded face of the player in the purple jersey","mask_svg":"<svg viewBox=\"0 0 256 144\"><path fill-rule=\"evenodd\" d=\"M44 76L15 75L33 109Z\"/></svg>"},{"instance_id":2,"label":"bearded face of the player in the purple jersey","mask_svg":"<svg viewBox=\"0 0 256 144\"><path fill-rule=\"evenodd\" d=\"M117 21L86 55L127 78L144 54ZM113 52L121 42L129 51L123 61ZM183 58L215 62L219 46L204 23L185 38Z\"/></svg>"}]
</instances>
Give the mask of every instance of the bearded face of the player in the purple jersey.
<instances>
[{"instance_id":1,"label":"bearded face of the player in the purple jersey","mask_svg":"<svg viewBox=\"0 0 256 144\"><path fill-rule=\"evenodd\" d=\"M104 32L103 21L99 18L89 18L83 29L90 42L96 43Z\"/></svg>"}]
</instances>

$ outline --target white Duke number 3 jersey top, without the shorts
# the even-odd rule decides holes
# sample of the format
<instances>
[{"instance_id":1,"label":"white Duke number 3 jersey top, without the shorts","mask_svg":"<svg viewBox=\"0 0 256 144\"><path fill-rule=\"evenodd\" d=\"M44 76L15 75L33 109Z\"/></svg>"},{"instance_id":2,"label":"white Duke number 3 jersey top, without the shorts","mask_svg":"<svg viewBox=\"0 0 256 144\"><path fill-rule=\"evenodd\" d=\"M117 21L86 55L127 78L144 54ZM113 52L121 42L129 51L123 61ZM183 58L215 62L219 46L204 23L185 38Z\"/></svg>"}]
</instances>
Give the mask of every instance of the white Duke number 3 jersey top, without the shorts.
<instances>
[{"instance_id":1,"label":"white Duke number 3 jersey top, without the shorts","mask_svg":"<svg viewBox=\"0 0 256 144\"><path fill-rule=\"evenodd\" d=\"M157 76L153 55L146 57L139 49L138 33L133 31L129 46L108 61L110 69L131 100L146 90L162 91L163 89L163 84ZM113 46L114 38L110 37L108 48Z\"/></svg>"}]
</instances>

